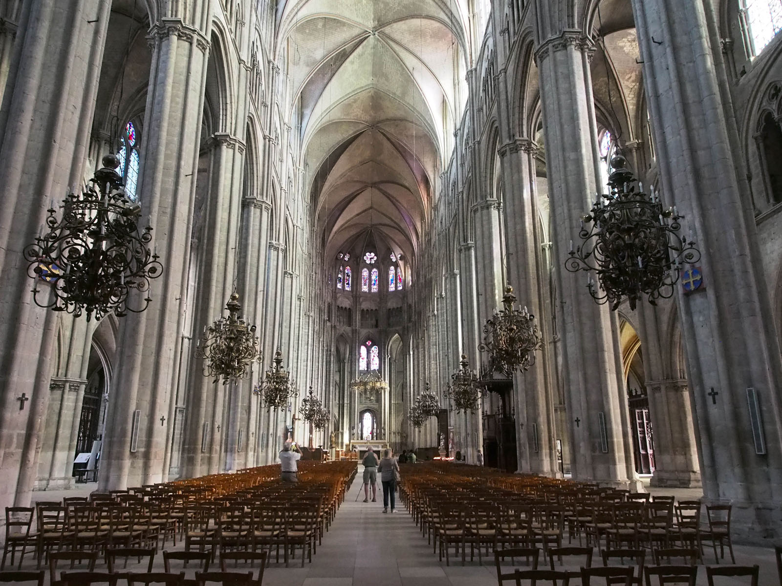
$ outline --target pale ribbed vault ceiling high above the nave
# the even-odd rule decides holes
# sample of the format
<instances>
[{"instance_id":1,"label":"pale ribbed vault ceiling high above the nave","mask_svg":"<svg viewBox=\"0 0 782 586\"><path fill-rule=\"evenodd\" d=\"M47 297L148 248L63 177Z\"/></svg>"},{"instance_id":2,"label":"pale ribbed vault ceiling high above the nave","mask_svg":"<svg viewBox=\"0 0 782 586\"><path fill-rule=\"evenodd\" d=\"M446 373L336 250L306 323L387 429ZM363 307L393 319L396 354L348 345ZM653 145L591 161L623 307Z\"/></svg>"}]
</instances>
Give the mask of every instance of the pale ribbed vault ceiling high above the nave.
<instances>
[{"instance_id":1,"label":"pale ribbed vault ceiling high above the nave","mask_svg":"<svg viewBox=\"0 0 782 586\"><path fill-rule=\"evenodd\" d=\"M327 258L370 229L415 258L467 97L464 3L289 0L278 10Z\"/></svg>"}]
</instances>

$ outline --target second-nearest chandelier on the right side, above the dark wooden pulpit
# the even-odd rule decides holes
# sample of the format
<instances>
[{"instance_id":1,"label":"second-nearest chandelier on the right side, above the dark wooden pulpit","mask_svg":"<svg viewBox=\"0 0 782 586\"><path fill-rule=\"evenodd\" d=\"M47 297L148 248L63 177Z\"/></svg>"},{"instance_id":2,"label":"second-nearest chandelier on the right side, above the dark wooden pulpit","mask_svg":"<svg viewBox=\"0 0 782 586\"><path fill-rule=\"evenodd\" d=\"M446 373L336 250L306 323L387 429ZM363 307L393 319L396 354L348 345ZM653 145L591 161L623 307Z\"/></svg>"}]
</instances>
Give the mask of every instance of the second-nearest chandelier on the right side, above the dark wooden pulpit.
<instances>
[{"instance_id":1,"label":"second-nearest chandelier on the right side, above the dark wooden pulpit","mask_svg":"<svg viewBox=\"0 0 782 586\"><path fill-rule=\"evenodd\" d=\"M512 377L515 370L529 370L535 363L535 351L543 349L543 338L538 334L535 316L522 309L513 309L516 296L508 285L502 298L503 309L486 320L483 327L481 352L489 352L493 370Z\"/></svg>"}]
</instances>

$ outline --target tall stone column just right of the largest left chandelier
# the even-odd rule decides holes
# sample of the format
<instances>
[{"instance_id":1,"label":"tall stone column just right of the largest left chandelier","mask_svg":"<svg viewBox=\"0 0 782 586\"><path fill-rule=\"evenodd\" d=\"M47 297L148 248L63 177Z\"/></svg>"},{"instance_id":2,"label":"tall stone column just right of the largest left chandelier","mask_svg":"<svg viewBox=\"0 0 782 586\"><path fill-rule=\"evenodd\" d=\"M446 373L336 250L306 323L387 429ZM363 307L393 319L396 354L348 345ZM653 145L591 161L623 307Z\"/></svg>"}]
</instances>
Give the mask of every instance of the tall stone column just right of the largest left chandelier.
<instances>
[{"instance_id":1,"label":"tall stone column just right of the largest left chandelier","mask_svg":"<svg viewBox=\"0 0 782 586\"><path fill-rule=\"evenodd\" d=\"M152 68L145 111L140 195L163 276L152 284L152 303L125 318L120 331L116 391L102 449L102 490L167 481L165 455L185 316L188 259L195 201L208 20L193 26L164 18L150 29ZM132 429L139 410L138 430ZM192 418L195 413L188 413ZM168 416L165 424L159 421ZM133 435L138 438L131 452Z\"/></svg>"}]
</instances>

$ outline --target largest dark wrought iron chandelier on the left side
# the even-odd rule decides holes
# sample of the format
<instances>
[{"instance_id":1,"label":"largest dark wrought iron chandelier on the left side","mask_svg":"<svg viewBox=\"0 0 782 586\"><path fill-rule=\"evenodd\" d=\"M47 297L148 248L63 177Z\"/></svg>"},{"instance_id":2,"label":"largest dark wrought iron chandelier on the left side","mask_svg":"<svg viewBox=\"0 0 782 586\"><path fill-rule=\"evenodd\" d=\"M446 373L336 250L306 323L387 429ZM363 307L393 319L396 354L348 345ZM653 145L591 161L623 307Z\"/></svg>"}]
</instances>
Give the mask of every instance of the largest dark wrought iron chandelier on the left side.
<instances>
[{"instance_id":1,"label":"largest dark wrought iron chandelier on the left side","mask_svg":"<svg viewBox=\"0 0 782 586\"><path fill-rule=\"evenodd\" d=\"M152 301L149 280L163 273L158 255L147 248L152 228L139 230L141 206L125 197L120 160L106 155L102 163L81 193L66 195L60 220L52 202L48 232L23 252L35 280L35 304L76 317L87 313L88 321L144 311ZM52 286L39 289L41 281ZM147 293L138 308L127 304L131 290Z\"/></svg>"}]
</instances>

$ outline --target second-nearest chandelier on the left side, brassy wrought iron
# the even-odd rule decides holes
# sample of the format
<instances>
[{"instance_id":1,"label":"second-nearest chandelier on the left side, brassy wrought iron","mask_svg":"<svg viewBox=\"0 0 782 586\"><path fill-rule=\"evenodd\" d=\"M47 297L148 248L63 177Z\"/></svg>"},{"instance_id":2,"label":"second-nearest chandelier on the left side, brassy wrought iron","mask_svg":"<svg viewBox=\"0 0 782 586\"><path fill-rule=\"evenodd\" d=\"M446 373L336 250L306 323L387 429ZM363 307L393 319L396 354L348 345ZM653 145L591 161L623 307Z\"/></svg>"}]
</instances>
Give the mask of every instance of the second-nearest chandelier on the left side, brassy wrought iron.
<instances>
[{"instance_id":1,"label":"second-nearest chandelier on the left side, brassy wrought iron","mask_svg":"<svg viewBox=\"0 0 782 586\"><path fill-rule=\"evenodd\" d=\"M228 317L221 316L209 327L203 327L201 339L195 345L195 357L205 360L205 377L214 377L214 382L222 377L223 384L228 384L247 377L249 366L253 362L260 363L261 354L256 327L239 316L242 306L236 292L231 293L225 309L228 309Z\"/></svg>"}]
</instances>

